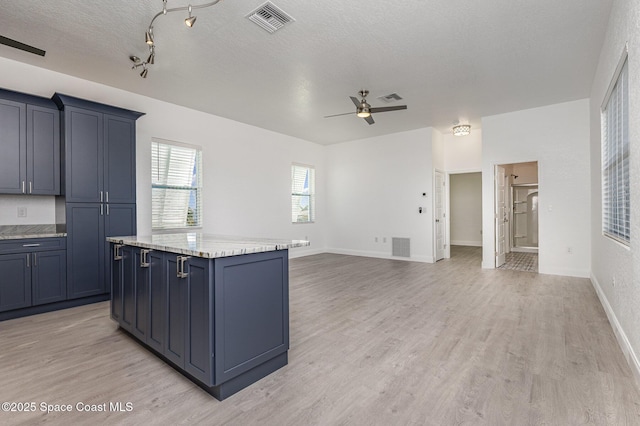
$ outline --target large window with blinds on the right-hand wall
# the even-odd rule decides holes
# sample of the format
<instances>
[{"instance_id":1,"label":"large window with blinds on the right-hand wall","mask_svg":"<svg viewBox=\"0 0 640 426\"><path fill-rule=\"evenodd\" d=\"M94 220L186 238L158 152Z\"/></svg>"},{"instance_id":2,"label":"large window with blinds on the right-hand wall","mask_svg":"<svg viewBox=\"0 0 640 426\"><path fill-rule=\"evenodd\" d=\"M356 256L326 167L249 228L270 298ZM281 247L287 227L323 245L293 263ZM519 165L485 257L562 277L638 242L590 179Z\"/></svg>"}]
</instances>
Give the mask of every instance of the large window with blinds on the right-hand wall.
<instances>
[{"instance_id":1,"label":"large window with blinds on the right-hand wall","mask_svg":"<svg viewBox=\"0 0 640 426\"><path fill-rule=\"evenodd\" d=\"M602 109L602 232L629 245L629 71L626 58L614 81Z\"/></svg>"}]
</instances>

